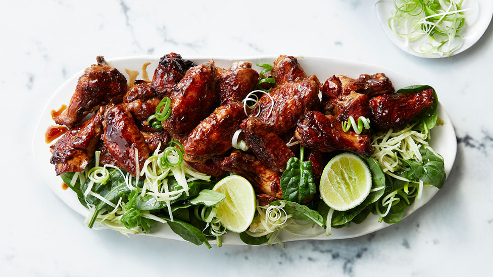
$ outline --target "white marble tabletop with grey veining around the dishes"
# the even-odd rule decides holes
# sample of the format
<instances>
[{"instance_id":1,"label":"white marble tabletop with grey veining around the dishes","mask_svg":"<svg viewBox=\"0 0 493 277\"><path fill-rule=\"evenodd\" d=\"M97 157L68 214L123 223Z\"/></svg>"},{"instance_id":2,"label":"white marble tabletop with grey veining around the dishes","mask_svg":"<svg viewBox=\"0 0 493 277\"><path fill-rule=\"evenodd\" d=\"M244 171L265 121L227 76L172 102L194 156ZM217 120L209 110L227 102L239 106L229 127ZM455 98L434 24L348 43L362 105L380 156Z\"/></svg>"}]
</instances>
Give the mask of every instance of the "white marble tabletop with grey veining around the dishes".
<instances>
[{"instance_id":1,"label":"white marble tabletop with grey veining around the dishes","mask_svg":"<svg viewBox=\"0 0 493 277\"><path fill-rule=\"evenodd\" d=\"M386 38L373 1L280 3L3 2L0 275L488 275L493 26L469 50L425 60ZM97 54L170 51L327 56L414 77L437 90L454 123L459 148L453 173L402 223L356 239L208 250L89 230L35 168L31 138L38 114L54 90Z\"/></svg>"}]
</instances>

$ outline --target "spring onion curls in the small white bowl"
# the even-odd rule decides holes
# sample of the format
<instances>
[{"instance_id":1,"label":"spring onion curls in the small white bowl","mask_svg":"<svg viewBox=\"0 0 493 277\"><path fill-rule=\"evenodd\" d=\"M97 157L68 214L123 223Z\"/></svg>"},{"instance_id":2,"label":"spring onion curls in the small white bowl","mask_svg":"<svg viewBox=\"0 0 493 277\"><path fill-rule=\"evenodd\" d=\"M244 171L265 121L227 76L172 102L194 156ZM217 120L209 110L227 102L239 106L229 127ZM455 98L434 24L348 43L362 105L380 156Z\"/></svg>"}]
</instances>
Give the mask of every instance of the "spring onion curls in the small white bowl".
<instances>
[{"instance_id":1,"label":"spring onion curls in the small white bowl","mask_svg":"<svg viewBox=\"0 0 493 277\"><path fill-rule=\"evenodd\" d=\"M460 48L466 32L463 0L394 0L390 30L406 47L429 56L446 56Z\"/></svg>"}]
</instances>

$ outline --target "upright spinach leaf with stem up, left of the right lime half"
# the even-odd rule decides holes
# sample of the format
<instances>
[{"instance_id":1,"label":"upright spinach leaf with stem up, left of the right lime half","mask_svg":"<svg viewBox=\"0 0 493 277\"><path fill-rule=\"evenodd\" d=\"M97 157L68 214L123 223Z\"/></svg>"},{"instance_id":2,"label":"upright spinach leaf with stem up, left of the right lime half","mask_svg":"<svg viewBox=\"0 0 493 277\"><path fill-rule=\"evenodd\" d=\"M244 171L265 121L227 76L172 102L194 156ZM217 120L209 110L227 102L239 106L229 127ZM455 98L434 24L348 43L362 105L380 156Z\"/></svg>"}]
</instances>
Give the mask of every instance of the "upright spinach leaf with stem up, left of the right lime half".
<instances>
[{"instance_id":1,"label":"upright spinach leaf with stem up, left of the right lime half","mask_svg":"<svg viewBox=\"0 0 493 277\"><path fill-rule=\"evenodd\" d=\"M300 147L300 158L292 157L287 161L280 185L283 198L297 203L304 202L317 192L312 162L303 161L303 147Z\"/></svg>"}]
</instances>

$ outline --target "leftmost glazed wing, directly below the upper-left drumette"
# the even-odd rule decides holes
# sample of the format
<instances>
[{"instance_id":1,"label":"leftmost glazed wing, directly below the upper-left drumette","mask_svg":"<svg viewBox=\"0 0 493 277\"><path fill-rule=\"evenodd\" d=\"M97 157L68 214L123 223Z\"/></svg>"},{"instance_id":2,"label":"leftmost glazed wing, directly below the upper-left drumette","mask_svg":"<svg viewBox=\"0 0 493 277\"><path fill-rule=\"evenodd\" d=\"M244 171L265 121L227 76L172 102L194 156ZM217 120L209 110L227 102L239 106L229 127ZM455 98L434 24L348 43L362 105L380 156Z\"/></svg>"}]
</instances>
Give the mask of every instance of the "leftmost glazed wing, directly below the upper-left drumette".
<instances>
[{"instance_id":1,"label":"leftmost glazed wing, directly below the upper-left drumette","mask_svg":"<svg viewBox=\"0 0 493 277\"><path fill-rule=\"evenodd\" d=\"M50 146L57 175L66 172L83 171L94 155L97 143L103 133L103 107L88 121L66 132Z\"/></svg>"}]
</instances>

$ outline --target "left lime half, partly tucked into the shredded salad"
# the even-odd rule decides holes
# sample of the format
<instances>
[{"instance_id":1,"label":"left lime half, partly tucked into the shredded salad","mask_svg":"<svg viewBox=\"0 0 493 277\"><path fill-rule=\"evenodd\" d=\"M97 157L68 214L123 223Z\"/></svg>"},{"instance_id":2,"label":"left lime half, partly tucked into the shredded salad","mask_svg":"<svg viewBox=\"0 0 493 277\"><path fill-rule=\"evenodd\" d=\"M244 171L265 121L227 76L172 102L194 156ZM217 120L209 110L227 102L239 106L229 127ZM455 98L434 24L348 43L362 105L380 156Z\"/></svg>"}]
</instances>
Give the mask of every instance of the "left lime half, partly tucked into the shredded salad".
<instances>
[{"instance_id":1,"label":"left lime half, partly tucked into the shredded salad","mask_svg":"<svg viewBox=\"0 0 493 277\"><path fill-rule=\"evenodd\" d=\"M228 176L219 181L214 191L226 195L219 202L216 217L226 229L241 233L247 230L255 215L255 191L247 179L238 175Z\"/></svg>"}]
</instances>

